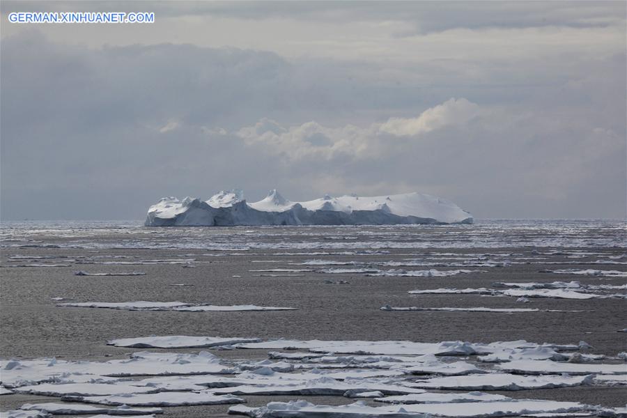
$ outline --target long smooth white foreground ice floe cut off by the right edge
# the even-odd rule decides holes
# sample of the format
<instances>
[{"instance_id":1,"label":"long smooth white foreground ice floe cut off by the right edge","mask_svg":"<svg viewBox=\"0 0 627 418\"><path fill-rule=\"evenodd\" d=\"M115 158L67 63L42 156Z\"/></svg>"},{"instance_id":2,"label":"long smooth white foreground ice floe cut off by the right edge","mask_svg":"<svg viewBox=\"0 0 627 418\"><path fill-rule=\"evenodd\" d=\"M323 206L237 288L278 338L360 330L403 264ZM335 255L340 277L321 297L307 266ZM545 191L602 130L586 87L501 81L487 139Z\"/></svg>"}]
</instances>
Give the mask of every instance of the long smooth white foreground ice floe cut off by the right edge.
<instances>
[{"instance_id":1,"label":"long smooth white foreground ice floe cut off by the right edge","mask_svg":"<svg viewBox=\"0 0 627 418\"><path fill-rule=\"evenodd\" d=\"M578 364L571 362L552 362L550 360L514 360L512 362L498 364L497 368L510 373L525 374L627 374L627 367L625 366L625 364Z\"/></svg>"}]
</instances>

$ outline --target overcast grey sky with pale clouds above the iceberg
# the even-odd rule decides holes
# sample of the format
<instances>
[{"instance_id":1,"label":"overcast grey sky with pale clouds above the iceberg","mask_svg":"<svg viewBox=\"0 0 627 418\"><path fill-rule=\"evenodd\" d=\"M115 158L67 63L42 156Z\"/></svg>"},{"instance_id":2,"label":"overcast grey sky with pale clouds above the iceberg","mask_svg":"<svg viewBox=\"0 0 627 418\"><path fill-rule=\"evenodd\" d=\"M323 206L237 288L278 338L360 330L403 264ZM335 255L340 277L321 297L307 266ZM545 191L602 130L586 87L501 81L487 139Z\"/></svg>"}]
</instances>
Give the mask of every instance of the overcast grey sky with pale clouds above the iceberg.
<instances>
[{"instance_id":1,"label":"overcast grey sky with pale clouds above the iceberg","mask_svg":"<svg viewBox=\"0 0 627 418\"><path fill-rule=\"evenodd\" d=\"M143 219L163 196L276 188L624 218L626 4L1 1L0 217Z\"/></svg>"}]
</instances>

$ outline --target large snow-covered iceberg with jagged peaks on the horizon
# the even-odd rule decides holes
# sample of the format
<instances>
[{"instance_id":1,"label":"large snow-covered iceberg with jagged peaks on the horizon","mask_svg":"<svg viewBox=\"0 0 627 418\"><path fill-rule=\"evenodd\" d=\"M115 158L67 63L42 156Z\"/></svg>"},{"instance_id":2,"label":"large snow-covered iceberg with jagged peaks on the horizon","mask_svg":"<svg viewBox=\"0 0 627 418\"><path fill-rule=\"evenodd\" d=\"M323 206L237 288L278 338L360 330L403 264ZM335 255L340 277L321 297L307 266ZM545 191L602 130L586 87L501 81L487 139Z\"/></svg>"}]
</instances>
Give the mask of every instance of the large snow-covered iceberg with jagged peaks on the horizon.
<instances>
[{"instance_id":1,"label":"large snow-covered iceberg with jagged peaks on the horizon","mask_svg":"<svg viewBox=\"0 0 627 418\"><path fill-rule=\"evenodd\" d=\"M219 192L207 201L165 197L148 209L146 226L472 224L455 203L428 194L324 196L293 202L277 190L247 203L241 191Z\"/></svg>"}]
</instances>

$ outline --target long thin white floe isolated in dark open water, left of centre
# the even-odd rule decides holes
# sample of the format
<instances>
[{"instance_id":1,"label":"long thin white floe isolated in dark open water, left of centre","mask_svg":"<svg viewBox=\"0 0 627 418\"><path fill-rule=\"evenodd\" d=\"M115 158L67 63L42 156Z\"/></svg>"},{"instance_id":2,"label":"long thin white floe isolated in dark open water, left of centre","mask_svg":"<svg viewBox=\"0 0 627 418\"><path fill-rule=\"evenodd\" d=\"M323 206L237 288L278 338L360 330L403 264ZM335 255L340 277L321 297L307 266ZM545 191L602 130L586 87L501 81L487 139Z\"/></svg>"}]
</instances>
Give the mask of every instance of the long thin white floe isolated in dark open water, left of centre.
<instances>
[{"instance_id":1,"label":"long thin white floe isolated in dark open water, left of centre","mask_svg":"<svg viewBox=\"0 0 627 418\"><path fill-rule=\"evenodd\" d=\"M173 284L171 286L192 286ZM106 308L124 311L178 311L178 312L233 312L233 311L293 311L290 307L258 307L256 305L195 305L183 302L72 302L61 303L60 307Z\"/></svg>"}]
</instances>

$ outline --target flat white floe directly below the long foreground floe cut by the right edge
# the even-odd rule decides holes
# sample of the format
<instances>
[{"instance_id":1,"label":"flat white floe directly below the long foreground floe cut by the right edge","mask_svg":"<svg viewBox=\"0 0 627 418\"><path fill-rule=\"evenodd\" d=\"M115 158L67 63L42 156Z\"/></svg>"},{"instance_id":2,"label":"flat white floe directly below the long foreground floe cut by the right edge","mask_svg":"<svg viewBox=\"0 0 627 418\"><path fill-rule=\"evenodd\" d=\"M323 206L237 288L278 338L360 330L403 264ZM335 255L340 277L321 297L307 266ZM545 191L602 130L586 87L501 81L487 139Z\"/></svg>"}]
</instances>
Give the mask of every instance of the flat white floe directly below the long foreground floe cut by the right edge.
<instances>
[{"instance_id":1,"label":"flat white floe directly below the long foreground floe cut by the right edge","mask_svg":"<svg viewBox=\"0 0 627 418\"><path fill-rule=\"evenodd\" d=\"M587 385L593 376L522 376L509 373L486 373L467 376L444 376L407 383L421 389L449 390L525 390Z\"/></svg>"}]
</instances>

